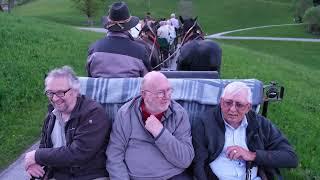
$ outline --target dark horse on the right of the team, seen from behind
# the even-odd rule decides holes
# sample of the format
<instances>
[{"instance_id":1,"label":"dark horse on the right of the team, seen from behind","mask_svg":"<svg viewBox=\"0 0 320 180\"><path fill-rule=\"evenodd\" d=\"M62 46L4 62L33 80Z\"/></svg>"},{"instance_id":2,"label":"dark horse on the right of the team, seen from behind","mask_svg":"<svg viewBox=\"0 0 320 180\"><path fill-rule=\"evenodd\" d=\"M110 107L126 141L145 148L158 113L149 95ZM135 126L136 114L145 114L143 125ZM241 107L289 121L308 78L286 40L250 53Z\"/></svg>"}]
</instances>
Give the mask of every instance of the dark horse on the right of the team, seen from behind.
<instances>
[{"instance_id":1,"label":"dark horse on the right of the team, seen from behind","mask_svg":"<svg viewBox=\"0 0 320 180\"><path fill-rule=\"evenodd\" d=\"M197 23L197 17L179 16L182 24L182 42L177 59L178 71L217 71L220 74L220 46L212 40L205 40Z\"/></svg>"}]
</instances>

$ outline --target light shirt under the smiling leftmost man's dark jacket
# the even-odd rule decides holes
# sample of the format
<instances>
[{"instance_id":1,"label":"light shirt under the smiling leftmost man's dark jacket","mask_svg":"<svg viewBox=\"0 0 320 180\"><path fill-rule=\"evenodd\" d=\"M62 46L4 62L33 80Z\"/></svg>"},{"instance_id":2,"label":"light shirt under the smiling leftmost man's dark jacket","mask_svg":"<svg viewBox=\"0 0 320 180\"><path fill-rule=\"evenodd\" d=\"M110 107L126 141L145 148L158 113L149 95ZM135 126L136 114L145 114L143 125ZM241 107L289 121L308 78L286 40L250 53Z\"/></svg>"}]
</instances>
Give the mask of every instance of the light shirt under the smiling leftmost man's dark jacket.
<instances>
[{"instance_id":1,"label":"light shirt under the smiling leftmost man's dark jacket","mask_svg":"<svg viewBox=\"0 0 320 180\"><path fill-rule=\"evenodd\" d=\"M66 135L64 132L65 125L67 121L64 121L62 119L62 114L54 109L52 113L56 116L56 121L53 126L53 130L51 133L51 141L53 144L53 147L62 147L66 146Z\"/></svg>"}]
</instances>

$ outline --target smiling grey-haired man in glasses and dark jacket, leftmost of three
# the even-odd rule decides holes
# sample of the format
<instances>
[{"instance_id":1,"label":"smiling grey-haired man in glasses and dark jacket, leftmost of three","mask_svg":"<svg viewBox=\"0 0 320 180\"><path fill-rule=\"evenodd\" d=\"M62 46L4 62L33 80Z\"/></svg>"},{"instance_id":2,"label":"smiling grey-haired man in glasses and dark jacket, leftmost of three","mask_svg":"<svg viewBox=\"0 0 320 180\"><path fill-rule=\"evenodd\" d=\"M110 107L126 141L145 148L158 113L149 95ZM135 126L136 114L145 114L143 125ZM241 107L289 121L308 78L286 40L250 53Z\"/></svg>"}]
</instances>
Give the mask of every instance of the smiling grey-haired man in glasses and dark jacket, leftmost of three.
<instances>
[{"instance_id":1,"label":"smiling grey-haired man in glasses and dark jacket, leftmost of three","mask_svg":"<svg viewBox=\"0 0 320 180\"><path fill-rule=\"evenodd\" d=\"M49 72L50 105L39 149L26 153L27 173L41 179L105 180L111 122L103 107L80 95L80 81L64 66Z\"/></svg>"}]
</instances>

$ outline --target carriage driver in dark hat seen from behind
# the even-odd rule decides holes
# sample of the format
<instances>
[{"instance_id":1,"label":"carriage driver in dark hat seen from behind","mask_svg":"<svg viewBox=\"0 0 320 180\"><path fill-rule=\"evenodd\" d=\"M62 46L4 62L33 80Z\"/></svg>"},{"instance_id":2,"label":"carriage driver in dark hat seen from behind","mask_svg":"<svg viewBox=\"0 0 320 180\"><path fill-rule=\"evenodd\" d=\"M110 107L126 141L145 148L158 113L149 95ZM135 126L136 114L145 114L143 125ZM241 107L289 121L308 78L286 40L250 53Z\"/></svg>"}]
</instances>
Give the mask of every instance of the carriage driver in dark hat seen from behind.
<instances>
[{"instance_id":1,"label":"carriage driver in dark hat seen from behind","mask_svg":"<svg viewBox=\"0 0 320 180\"><path fill-rule=\"evenodd\" d=\"M89 77L143 77L151 70L146 47L129 33L138 23L139 18L130 15L126 3L111 5L104 23L108 33L88 51L86 70Z\"/></svg>"}]
</instances>

